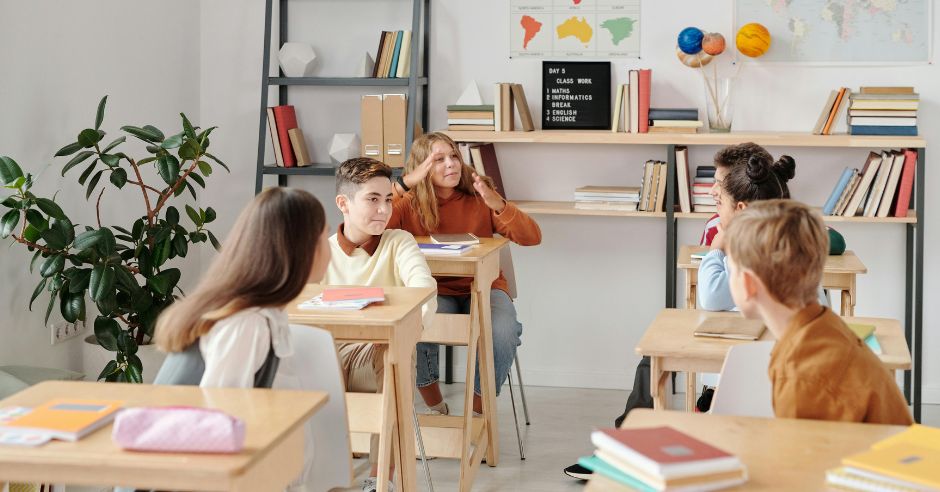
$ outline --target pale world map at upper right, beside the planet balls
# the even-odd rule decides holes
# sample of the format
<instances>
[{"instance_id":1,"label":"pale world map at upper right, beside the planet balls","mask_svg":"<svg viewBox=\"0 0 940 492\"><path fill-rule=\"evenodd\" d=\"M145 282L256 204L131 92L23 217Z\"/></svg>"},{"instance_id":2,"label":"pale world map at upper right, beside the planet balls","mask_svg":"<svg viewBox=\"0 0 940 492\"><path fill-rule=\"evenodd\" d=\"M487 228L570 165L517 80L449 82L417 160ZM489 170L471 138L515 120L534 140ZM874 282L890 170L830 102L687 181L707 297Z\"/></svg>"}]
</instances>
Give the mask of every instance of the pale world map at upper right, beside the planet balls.
<instances>
[{"instance_id":1,"label":"pale world map at upper right, beside the planet balls","mask_svg":"<svg viewBox=\"0 0 940 492\"><path fill-rule=\"evenodd\" d=\"M735 26L767 27L762 62L926 63L932 1L736 0Z\"/></svg>"}]
</instances>

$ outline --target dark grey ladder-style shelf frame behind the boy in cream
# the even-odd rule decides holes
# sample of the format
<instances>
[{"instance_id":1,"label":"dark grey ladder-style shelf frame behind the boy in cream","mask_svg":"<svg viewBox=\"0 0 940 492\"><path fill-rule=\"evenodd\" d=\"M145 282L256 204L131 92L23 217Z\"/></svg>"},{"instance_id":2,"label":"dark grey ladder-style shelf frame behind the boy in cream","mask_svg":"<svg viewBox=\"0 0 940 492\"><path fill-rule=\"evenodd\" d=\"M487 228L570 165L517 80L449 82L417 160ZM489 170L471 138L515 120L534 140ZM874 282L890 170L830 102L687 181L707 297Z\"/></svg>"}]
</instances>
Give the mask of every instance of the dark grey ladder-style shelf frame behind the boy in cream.
<instances>
[{"instance_id":1,"label":"dark grey ladder-style shelf frame behind the boy in cream","mask_svg":"<svg viewBox=\"0 0 940 492\"><path fill-rule=\"evenodd\" d=\"M265 162L265 149L270 137L268 134L268 95L272 87L277 90L278 104L288 104L289 87L402 87L408 88L408 110L405 116L405 157L411 149L414 138L415 115L418 108L418 90L421 89L421 124L428 127L428 78L420 76L419 70L423 67L427 73L430 65L428 33L430 32L430 0L412 0L411 32L414 42L408 56L411 58L409 75L406 78L376 78L376 77L284 77L278 70L278 76L271 75L271 27L273 19L272 9L274 2L278 2L278 43L283 45L287 37L287 19L289 12L288 0L265 0L264 7L264 56L261 68L261 107L258 122L258 159L255 171L255 193L261 191L265 175L277 176L278 186L287 186L288 176L335 176L336 165L330 162L313 163L303 167L277 167L272 162ZM422 19L423 17L423 19ZM422 22L423 20L423 22ZM423 34L423 36L422 36ZM422 59L419 63L419 46L424 40ZM275 61L276 63L276 61ZM357 107L358 110L358 107ZM400 169L395 169L400 174ZM332 201L332 198L330 199Z\"/></svg>"}]
</instances>

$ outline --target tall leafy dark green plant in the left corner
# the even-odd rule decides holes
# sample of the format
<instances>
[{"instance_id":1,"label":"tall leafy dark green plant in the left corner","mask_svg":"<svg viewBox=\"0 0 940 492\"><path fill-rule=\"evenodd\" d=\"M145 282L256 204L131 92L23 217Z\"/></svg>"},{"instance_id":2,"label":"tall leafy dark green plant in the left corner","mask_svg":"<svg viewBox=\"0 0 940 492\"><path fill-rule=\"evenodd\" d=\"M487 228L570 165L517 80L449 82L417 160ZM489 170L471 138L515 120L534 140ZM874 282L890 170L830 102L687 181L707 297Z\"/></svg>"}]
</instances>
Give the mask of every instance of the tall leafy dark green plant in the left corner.
<instances>
[{"instance_id":1,"label":"tall leafy dark green plant in the left corner","mask_svg":"<svg viewBox=\"0 0 940 492\"><path fill-rule=\"evenodd\" d=\"M38 269L41 279L30 298L30 310L33 301L48 292L45 322L58 306L62 317L74 323L85 320L86 300L90 300L98 311L94 338L114 353L98 379L139 383L144 367L138 347L150 342L157 317L174 301L174 293L182 292L177 285L180 270L170 266L171 260L185 257L190 244L210 242L219 248L216 237L206 229L216 218L211 207L186 205L190 226L170 203L187 191L195 199L193 185L205 187L213 165L226 171L228 167L208 151L215 127L194 127L183 113L182 131L171 136L151 125L121 127L146 144L149 155L142 159L119 150L126 136L103 145L101 123L107 99L103 97L98 104L94 128L82 130L75 142L55 154L71 156L62 167L62 176L83 166L78 183L86 187L86 200L98 191L97 223L73 223L54 197L31 191L32 175L24 174L13 159L0 156L0 182L13 190L0 203L9 209L0 217L0 237L12 236L15 243L34 252L29 269ZM145 166L155 167L163 182L147 184L141 174ZM117 189L139 188L146 213L127 227L102 225L101 198L108 183Z\"/></svg>"}]
</instances>

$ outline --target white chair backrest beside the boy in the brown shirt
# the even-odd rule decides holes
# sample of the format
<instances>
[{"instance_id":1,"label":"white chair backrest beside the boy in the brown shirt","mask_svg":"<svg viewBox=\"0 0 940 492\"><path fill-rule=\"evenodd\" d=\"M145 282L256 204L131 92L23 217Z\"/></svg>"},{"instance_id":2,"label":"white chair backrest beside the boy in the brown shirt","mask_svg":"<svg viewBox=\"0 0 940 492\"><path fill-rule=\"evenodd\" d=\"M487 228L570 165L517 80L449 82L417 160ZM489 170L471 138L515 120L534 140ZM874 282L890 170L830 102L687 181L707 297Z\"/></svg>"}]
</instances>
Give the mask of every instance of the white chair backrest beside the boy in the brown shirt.
<instances>
[{"instance_id":1,"label":"white chair backrest beside the boy in the brown shirt","mask_svg":"<svg viewBox=\"0 0 940 492\"><path fill-rule=\"evenodd\" d=\"M774 342L751 342L728 350L711 413L773 417L773 388L767 376Z\"/></svg>"}]
</instances>

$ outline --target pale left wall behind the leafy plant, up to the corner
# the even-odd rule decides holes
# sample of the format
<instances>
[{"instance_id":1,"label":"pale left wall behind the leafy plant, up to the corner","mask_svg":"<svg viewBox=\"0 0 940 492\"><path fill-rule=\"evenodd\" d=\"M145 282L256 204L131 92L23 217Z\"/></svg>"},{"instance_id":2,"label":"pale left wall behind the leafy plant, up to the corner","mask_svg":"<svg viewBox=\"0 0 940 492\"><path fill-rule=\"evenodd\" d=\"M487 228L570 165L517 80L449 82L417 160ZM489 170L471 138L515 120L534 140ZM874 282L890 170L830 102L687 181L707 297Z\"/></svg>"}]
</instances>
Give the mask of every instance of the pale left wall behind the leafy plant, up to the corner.
<instances>
[{"instance_id":1,"label":"pale left wall behind the leafy plant, up to the corner","mask_svg":"<svg viewBox=\"0 0 940 492\"><path fill-rule=\"evenodd\" d=\"M77 182L81 169L62 178L68 159L53 154L94 125L105 94L108 141L126 124L181 128L181 111L198 121L199 24L198 6L185 0L0 0L0 154L36 176L37 194L58 191L73 221L93 222L94 207ZM129 155L142 150L125 147ZM108 190L102 199L104 223L127 225L143 213L139 191ZM40 278L27 271L30 257L21 245L4 241L0 249L0 364L79 370L78 339L50 345L48 296L26 310ZM187 270L198 273L197 263ZM58 307L50 321L57 319Z\"/></svg>"}]
</instances>

